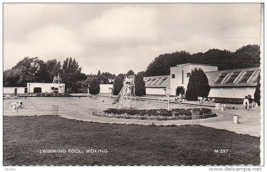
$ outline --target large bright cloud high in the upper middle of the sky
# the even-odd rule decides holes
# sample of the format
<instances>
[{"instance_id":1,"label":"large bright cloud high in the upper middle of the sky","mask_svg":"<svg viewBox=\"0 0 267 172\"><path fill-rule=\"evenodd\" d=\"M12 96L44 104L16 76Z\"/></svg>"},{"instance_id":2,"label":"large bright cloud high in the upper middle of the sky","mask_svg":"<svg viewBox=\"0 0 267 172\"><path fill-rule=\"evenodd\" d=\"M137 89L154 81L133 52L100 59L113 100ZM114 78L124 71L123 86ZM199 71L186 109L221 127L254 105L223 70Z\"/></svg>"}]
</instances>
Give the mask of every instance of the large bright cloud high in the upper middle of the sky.
<instances>
[{"instance_id":1,"label":"large bright cloud high in the upper middle of the sky","mask_svg":"<svg viewBox=\"0 0 267 172\"><path fill-rule=\"evenodd\" d=\"M157 17L152 7L124 6L105 11L84 25L85 38L89 42L108 44L134 44L158 39Z\"/></svg>"}]
</instances>

